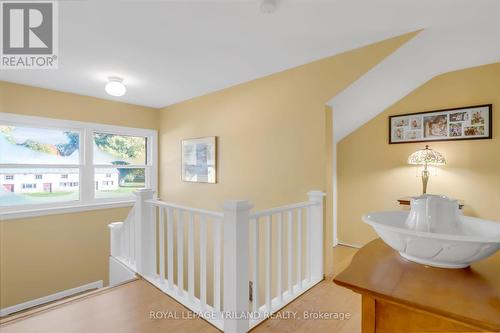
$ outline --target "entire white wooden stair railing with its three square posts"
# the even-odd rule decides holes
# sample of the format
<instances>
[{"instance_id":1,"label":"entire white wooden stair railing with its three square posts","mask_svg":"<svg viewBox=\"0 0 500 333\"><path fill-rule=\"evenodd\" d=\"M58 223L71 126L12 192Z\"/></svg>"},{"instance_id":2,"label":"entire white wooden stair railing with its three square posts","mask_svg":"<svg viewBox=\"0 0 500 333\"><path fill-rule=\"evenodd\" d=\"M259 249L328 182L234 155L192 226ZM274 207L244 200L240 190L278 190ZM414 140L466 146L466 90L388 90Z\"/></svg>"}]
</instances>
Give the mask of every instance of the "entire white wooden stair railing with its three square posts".
<instances>
[{"instance_id":1,"label":"entire white wooden stair railing with its three square posts","mask_svg":"<svg viewBox=\"0 0 500 333\"><path fill-rule=\"evenodd\" d=\"M247 332L323 279L324 194L308 196L255 213L226 201L215 212L139 190L127 220L110 224L111 255L220 330Z\"/></svg>"}]
</instances>

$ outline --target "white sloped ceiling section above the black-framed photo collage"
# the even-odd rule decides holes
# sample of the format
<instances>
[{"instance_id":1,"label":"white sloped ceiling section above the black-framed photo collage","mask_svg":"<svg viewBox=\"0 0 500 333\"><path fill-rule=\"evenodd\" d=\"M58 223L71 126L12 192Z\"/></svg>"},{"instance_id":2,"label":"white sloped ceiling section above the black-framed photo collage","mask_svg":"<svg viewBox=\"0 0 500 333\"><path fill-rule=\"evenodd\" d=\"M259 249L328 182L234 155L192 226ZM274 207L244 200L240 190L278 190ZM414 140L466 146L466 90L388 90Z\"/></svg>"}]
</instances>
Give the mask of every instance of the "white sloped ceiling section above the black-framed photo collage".
<instances>
[{"instance_id":1,"label":"white sloped ceiling section above the black-framed photo collage","mask_svg":"<svg viewBox=\"0 0 500 333\"><path fill-rule=\"evenodd\" d=\"M500 2L463 22L422 30L328 104L338 142L433 77L500 61ZM452 15L450 13L450 15ZM447 20L448 16L443 17ZM421 110L408 110L416 112Z\"/></svg>"}]
</instances>

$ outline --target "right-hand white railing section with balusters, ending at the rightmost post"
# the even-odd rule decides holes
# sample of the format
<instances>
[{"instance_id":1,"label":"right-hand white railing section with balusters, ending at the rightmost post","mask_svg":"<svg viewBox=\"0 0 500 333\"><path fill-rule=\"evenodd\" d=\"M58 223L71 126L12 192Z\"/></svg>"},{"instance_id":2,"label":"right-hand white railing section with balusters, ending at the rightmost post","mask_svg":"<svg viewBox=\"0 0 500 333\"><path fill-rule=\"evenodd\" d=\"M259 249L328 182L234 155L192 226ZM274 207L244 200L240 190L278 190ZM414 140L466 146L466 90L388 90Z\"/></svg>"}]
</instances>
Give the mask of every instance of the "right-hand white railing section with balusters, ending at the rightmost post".
<instances>
[{"instance_id":1,"label":"right-hand white railing section with balusters, ending at the rightmost post","mask_svg":"<svg viewBox=\"0 0 500 333\"><path fill-rule=\"evenodd\" d=\"M254 314L249 322L250 328L323 280L324 194L312 191L308 196L309 201L306 202L250 215ZM263 263L260 258L264 258ZM273 271L275 277L272 276ZM261 280L264 285L261 285ZM276 286L274 292L273 281ZM262 301L261 293L264 294Z\"/></svg>"}]
</instances>

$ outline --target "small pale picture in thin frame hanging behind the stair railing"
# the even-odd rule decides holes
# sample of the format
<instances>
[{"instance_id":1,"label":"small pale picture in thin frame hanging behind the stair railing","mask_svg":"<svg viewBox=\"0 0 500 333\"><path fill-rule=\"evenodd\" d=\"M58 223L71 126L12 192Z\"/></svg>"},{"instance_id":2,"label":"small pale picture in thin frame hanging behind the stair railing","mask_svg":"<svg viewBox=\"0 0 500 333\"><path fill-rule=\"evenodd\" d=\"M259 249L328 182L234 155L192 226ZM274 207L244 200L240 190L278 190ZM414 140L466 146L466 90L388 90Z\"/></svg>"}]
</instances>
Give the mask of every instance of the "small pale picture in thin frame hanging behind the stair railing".
<instances>
[{"instance_id":1,"label":"small pale picture in thin frame hanging behind the stair railing","mask_svg":"<svg viewBox=\"0 0 500 333\"><path fill-rule=\"evenodd\" d=\"M182 180L194 183L217 182L217 137L181 141Z\"/></svg>"}]
</instances>

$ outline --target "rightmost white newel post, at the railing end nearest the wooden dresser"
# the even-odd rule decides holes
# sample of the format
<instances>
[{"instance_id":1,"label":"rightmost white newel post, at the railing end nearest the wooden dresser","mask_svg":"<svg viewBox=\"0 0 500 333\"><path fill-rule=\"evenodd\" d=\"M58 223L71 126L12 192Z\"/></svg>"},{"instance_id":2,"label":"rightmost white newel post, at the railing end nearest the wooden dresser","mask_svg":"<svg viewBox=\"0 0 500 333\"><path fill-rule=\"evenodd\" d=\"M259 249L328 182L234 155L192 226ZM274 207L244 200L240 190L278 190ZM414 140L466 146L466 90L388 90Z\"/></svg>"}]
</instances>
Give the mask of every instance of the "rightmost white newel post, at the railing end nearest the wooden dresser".
<instances>
[{"instance_id":1,"label":"rightmost white newel post, at the railing end nearest the wooden dresser","mask_svg":"<svg viewBox=\"0 0 500 333\"><path fill-rule=\"evenodd\" d=\"M323 197L321 191L310 191L307 193L309 201L315 203L310 208L309 223L311 223L310 246L311 246L311 278L312 280L323 279Z\"/></svg>"}]
</instances>

